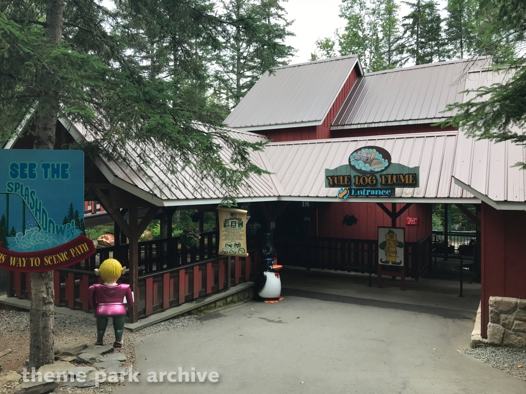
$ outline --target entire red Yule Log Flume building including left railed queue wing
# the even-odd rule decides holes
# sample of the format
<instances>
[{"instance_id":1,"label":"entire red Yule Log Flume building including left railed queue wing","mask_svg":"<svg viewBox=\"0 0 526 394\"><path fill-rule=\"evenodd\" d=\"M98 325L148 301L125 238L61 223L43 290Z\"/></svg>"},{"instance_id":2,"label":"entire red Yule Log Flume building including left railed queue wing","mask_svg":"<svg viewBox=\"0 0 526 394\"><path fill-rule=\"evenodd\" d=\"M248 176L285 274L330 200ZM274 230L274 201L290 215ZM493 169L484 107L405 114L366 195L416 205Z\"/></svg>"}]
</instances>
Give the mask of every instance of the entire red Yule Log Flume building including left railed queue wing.
<instances>
[{"instance_id":1,"label":"entire red Yule Log Flume building including left railed queue wing","mask_svg":"<svg viewBox=\"0 0 526 394\"><path fill-rule=\"evenodd\" d=\"M268 142L264 152L251 152L250 157L270 174L251 176L250 188L237 200L249 204L251 215L269 230L275 228L275 242L285 245L278 251L285 264L372 274L377 227L405 227L407 272L415 278L430 253L431 204L476 205L478 215L471 219L480 233L484 336L490 296L526 298L521 253L526 178L524 171L511 167L526 161L526 152L432 125L452 115L445 112L448 104L469 98L464 90L501 80L490 64L491 59L478 58L365 74L358 57L348 56L276 68L260 78L225 120L236 138ZM57 135L70 141L96 138L67 119L58 122ZM5 148L31 145L21 134ZM388 198L338 199L337 189L325 187L325 170L348 164L349 154L364 146L381 147L393 162L418 167L418 187L397 187ZM177 164L166 162L158 147L122 149L121 161L101 157L94 163L86 192L87 200L96 195L97 202L87 202L85 210L107 211L117 238L124 241L97 258L115 253L129 268L127 279L140 299L130 319L249 281L255 255L228 264L217 255L216 233L206 234L206 243L203 237L192 251L170 235L138 242L139 230L154 217L166 219L182 207L215 210L226 191L215 180L197 182L191 168L174 174ZM146 155L150 164L141 165L139 155ZM139 222L140 212L144 219ZM352 225L344 223L346 215L354 217ZM406 224L408 216L418 222ZM119 226L128 234L121 235ZM87 309L82 289L96 280L97 264L94 258L58 273L57 303ZM27 278L18 275L10 286L10 295L29 296Z\"/></svg>"}]
</instances>

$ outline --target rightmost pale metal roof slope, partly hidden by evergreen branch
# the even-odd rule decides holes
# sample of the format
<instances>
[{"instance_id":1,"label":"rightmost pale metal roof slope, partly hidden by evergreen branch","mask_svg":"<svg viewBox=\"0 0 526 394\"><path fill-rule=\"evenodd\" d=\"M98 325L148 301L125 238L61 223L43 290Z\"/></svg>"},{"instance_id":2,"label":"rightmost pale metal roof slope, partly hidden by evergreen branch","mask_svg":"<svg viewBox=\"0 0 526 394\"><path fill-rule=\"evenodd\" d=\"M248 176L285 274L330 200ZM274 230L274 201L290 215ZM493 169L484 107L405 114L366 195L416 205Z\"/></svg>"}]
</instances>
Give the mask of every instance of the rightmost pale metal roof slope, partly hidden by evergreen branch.
<instances>
[{"instance_id":1,"label":"rightmost pale metal roof slope, partly hidden by evergreen branch","mask_svg":"<svg viewBox=\"0 0 526 394\"><path fill-rule=\"evenodd\" d=\"M469 72L466 89L491 86L509 78L508 72ZM473 93L466 93L466 99ZM523 133L513 127L512 131ZM459 132L454 182L497 209L526 210L526 171L513 167L526 162L526 147L510 141L476 140Z\"/></svg>"}]
</instances>

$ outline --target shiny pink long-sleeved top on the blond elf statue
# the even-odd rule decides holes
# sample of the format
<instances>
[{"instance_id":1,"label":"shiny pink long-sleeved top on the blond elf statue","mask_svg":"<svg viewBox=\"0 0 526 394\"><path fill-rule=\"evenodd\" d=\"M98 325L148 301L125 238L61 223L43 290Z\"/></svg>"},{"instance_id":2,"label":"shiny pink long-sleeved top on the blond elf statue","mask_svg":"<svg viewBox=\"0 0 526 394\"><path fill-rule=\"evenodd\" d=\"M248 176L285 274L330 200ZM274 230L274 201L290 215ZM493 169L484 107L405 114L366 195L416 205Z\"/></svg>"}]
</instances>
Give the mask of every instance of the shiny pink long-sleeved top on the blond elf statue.
<instances>
[{"instance_id":1,"label":"shiny pink long-sleeved top on the blond elf statue","mask_svg":"<svg viewBox=\"0 0 526 394\"><path fill-rule=\"evenodd\" d=\"M116 286L94 284L88 288L89 305L95 309L95 316L118 316L126 315L123 299L133 306L134 299L130 285L126 283Z\"/></svg>"}]
</instances>

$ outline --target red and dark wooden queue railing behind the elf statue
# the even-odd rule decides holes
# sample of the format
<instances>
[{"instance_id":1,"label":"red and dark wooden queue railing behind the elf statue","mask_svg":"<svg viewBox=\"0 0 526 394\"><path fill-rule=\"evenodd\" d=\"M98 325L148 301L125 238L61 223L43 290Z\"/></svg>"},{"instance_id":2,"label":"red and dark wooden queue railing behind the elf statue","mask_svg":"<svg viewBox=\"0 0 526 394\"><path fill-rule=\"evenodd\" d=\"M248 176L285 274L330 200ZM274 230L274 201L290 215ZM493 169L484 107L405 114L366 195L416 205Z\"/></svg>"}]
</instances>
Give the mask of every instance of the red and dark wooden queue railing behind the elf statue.
<instances>
[{"instance_id":1,"label":"red and dark wooden queue railing behind the elf statue","mask_svg":"<svg viewBox=\"0 0 526 394\"><path fill-rule=\"evenodd\" d=\"M217 256L217 240L213 231L201 234L198 247L178 238L139 242L139 317L249 281L254 258ZM89 310L88 287L100 282L94 269L110 257L128 266L127 254L127 244L97 248L89 259L55 271L55 304ZM129 283L128 275L120 281ZM10 272L8 296L31 298L30 289L29 274Z\"/></svg>"}]
</instances>

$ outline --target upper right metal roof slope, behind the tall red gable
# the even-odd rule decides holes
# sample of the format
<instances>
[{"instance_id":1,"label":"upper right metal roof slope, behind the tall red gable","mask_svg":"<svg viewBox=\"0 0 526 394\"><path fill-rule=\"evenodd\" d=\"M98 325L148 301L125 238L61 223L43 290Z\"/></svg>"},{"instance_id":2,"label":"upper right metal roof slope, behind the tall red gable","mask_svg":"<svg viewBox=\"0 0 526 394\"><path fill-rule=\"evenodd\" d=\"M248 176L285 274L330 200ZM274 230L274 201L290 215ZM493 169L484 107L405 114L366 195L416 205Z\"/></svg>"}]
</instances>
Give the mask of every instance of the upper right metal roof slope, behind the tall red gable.
<instances>
[{"instance_id":1,"label":"upper right metal roof slope, behind the tall red gable","mask_svg":"<svg viewBox=\"0 0 526 394\"><path fill-rule=\"evenodd\" d=\"M450 117L462 101L467 70L489 66L491 57L444 61L370 72L358 78L331 130L432 123Z\"/></svg>"}]
</instances>

